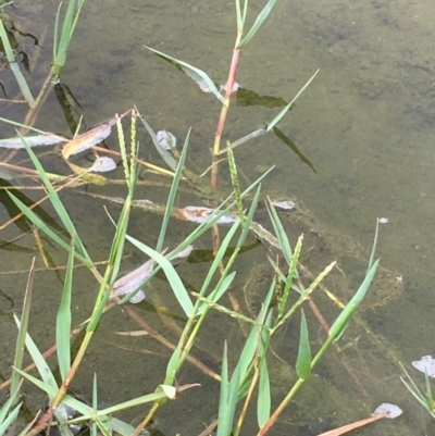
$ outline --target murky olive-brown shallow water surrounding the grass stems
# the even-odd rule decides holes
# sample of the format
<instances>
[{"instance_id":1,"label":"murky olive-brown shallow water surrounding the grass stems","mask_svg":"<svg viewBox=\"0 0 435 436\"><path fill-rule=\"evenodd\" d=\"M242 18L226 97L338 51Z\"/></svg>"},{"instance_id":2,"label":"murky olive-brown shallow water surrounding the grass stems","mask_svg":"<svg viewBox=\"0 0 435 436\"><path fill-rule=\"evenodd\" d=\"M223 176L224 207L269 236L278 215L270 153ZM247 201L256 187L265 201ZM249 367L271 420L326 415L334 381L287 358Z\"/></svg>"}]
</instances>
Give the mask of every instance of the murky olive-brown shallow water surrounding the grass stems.
<instances>
[{"instance_id":1,"label":"murky olive-brown shallow water surrounding the grass stems","mask_svg":"<svg viewBox=\"0 0 435 436\"><path fill-rule=\"evenodd\" d=\"M250 16L254 16L262 4L262 1L253 1ZM24 32L37 38L45 36L40 50L35 49L28 38L22 39L30 59L38 55L32 75L35 94L48 72L55 9L57 4L40 1L30 4L22 2L16 11L16 23ZM314 71L321 68L296 108L278 125L316 172L312 172L271 134L237 149L236 159L243 173L243 183L252 182L261 169L275 165L264 189L278 190L303 202L322 229L327 229L331 235L340 235L337 236L337 246L341 250L345 249L345 242L340 242L339 237L347 235L353 242L361 244L366 254L375 219L388 217L388 223L381 227L378 253L383 266L397 271L397 276L403 277L403 288L399 296L386 304L366 310L364 321L375 335L385 338L387 346L383 351L387 353L389 349L408 366L415 358L435 352L432 289L435 256L434 17L435 5L427 0L419 3L405 0L309 0L299 3L279 0L271 20L244 49L237 76L246 90L288 101ZM211 95L202 94L186 75L147 51L144 45L189 62L207 71L216 83L224 83L234 37L232 1L89 1L69 52L63 83L79 102L82 108L78 111L88 126L112 116L114 112L123 112L134 103L154 129L166 128L184 138L191 126L189 165L201 173L210 162L209 149L220 103ZM0 75L8 96L16 94L10 72L3 70ZM4 104L0 108L1 116L20 121L26 112L17 105ZM268 109L265 105L234 104L225 139L235 140L259 128L278 111L279 108ZM37 126L69 134L53 95L39 114ZM5 135L11 135L11 132L7 130ZM150 140L144 132L140 135L142 154L156 160ZM115 141L109 139L108 144L114 146ZM25 154L20 153L17 158L17 161L25 159ZM50 171L67 173L55 155L45 158L45 163ZM121 178L122 174L116 176ZM221 164L221 177L227 177L225 164ZM89 189L105 195L123 195L122 187ZM26 195L38 198L37 192ZM144 188L139 191L139 196L149 196L161 202L165 195L165 190L149 191ZM102 203L74 192L64 194L64 199L91 254L103 260L113 228ZM191 201L191 198L188 199ZM44 208L52 213L47 204ZM116 207L111 207L113 214L117 211ZM2 208L1 223L10 214L7 208ZM153 245L159 224L159 217L135 212L130 232ZM179 232L187 234L189 228L170 229L169 240L176 244ZM2 231L1 239L12 240L20 237L22 232L23 228L9 226ZM45 242L48 244L47 240ZM20 251L11 253L3 249L2 273L26 270L33 253L38 256L32 235L22 237L17 244ZM203 239L203 245L201 248L209 248L210 241ZM64 262L65 256L61 250L50 246L48 250L57 264ZM246 254L238 265L240 277L245 277L253 264L263 260L264 253L258 250ZM319 264L314 264L314 267L326 265L332 260L334 258L327 256L324 259L316 258L314 262ZM137 261L132 258L127 260L132 265ZM44 269L39 258L37 262ZM350 279L353 286L357 285L357 275L363 272L362 264L356 263L356 271L346 270L349 276L353 274L355 278ZM352 264L345 265L350 267ZM186 279L194 288L198 287L197 277L207 265L183 267ZM35 340L41 348L47 348L54 339L52 327L62 289L61 277L47 271L37 275L32 332L35 332ZM25 274L1 276L1 311L20 310L25 282ZM86 292L95 291L94 285L89 289L89 283L94 282L88 274L76 274L76 323L84 319L86 303L91 300ZM167 292L163 281L158 281L156 286L161 287L162 292ZM152 291L157 295L158 290ZM167 298L163 299L165 304L170 304ZM12 308L12 304L15 306ZM150 323L160 323L154 314L146 316ZM213 315L210 322L221 325L223 320ZM2 316L0 323L1 332L13 338L14 327L10 320ZM226 329L236 327L228 324L220 331L215 325L212 331L217 331L217 335L207 338L206 348L217 357ZM123 313L113 312L104 319L101 326L104 339L96 340L85 362L89 372L80 374L77 381L79 390L90 391L94 370L99 372L101 396L107 401L142 395L163 379L162 362L169 353L150 339L129 338L123 341L123 347L128 350L114 347L120 344L114 331L127 328L135 327ZM161 328L171 332L167 325ZM315 329L313 332L315 335ZM293 338L297 333L288 329L286 335ZM349 332L345 341L351 341L356 336ZM12 339L7 348L4 356L12 356ZM142 353L145 350L157 353L157 357ZM289 361L294 359L294 356L288 356L288 350L282 352L287 353ZM108 353L115 358L108 360ZM433 433L434 423L415 407L410 395L401 387L399 370L385 363L387 359L381 354L375 345L364 339L348 354L365 388L363 403L374 409L382 401L396 402L406 410L406 418L397 424L382 423L375 429L361 431L360 434L384 435L394 432L425 435L431 434L431 429ZM1 371L7 372L7 359L1 358ZM352 413L346 415L347 412L339 414L338 410L334 410L334 406L325 407L328 401L335 404L332 400L334 389L348 395L349 403L361 394L358 386L348 387L348 373L335 369L334 362L331 359L319 366L316 373L322 382L319 382L319 386L318 381L312 382L312 386L318 388L318 400L313 400L316 395L312 394L315 388L311 386L297 402L298 407L290 410L294 414L288 413L289 421L277 427L279 432L288 433L290 428L312 435L330 428L330 425L362 419L371 412L369 409L358 410L356 406L350 408ZM412 374L420 377L415 372ZM132 378L135 378L134 384L126 383ZM162 413L160 426L167 434L174 431L198 434L201 424L195 411L202 408L204 421L213 418L219 401L217 386L190 370L183 374L182 382L201 382L203 386L186 396L183 404L171 404ZM331 383L333 387L326 388L322 383ZM327 391L330 397L325 395L326 398L322 398L323 394L320 393L323 391ZM276 396L279 397L279 394ZM337 403L340 399L343 397L337 394ZM35 398L35 404L37 401ZM346 416L348 420L345 420Z\"/></svg>"}]
</instances>

